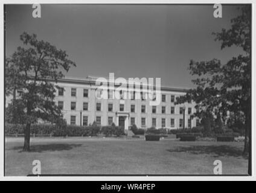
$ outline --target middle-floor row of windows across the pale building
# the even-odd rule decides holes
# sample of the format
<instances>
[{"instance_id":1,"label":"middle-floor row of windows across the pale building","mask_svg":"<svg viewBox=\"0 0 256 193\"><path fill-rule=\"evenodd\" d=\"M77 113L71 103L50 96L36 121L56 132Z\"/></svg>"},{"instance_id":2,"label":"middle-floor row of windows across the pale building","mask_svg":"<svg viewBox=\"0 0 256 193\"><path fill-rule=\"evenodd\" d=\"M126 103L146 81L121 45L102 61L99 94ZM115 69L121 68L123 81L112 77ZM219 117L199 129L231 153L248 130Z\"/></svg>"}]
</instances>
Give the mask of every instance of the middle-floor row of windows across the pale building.
<instances>
[{"instance_id":1,"label":"middle-floor row of windows across the pale building","mask_svg":"<svg viewBox=\"0 0 256 193\"><path fill-rule=\"evenodd\" d=\"M63 109L64 102L63 101L59 101L58 102L58 106L60 107L60 109ZM71 102L71 110L75 110L75 109L76 109L76 102ZM88 110L88 102L84 102L83 103L83 110ZM96 104L96 110L97 111L101 111L101 103L97 103ZM113 111L113 104L112 103L108 104L107 110L109 112ZM124 104L120 104L119 110L120 111L124 111ZM184 110L185 109L183 107L180 107L179 108L179 113L183 114ZM131 104L130 105L130 112L135 113L135 104ZM188 107L188 115L190 115L191 112L192 112L191 107ZM146 113L146 105L141 105L141 113ZM156 106L152 106L152 113L156 113ZM165 106L161 107L161 113L162 114L166 113ZM171 107L171 114L175 114L175 108L174 107Z\"/></svg>"}]
</instances>

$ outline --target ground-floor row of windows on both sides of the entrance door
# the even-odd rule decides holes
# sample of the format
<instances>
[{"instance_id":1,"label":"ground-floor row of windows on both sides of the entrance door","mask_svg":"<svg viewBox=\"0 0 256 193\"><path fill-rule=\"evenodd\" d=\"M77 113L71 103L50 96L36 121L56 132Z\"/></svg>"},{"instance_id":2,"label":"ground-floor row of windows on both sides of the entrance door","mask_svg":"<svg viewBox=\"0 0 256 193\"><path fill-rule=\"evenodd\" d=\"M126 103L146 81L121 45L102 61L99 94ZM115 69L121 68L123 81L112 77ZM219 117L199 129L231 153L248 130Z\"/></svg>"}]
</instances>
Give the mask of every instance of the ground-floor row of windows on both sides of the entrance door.
<instances>
[{"instance_id":1,"label":"ground-floor row of windows on both sides of the entrance door","mask_svg":"<svg viewBox=\"0 0 256 193\"><path fill-rule=\"evenodd\" d=\"M71 125L75 125L75 118L76 116L71 115L70 118L70 124ZM101 125L101 116L96 116L96 122L97 124ZM171 118L170 119L170 125L171 127L175 127L175 119ZM113 123L113 117L112 116L108 116L107 117L107 124L108 125L112 125ZM161 118L161 127L166 127L165 125L166 123L166 119L165 118ZM134 125L135 124L135 117L131 117L130 118L130 125ZM179 127L183 127L184 121L183 119L179 119ZM88 125L88 116L83 116L83 125L87 126ZM196 119L196 126L199 126L199 119ZM141 118L141 127L146 127L146 118ZM156 118L152 118L152 127L156 127ZM188 127L191 127L191 119L188 119Z\"/></svg>"}]
</instances>

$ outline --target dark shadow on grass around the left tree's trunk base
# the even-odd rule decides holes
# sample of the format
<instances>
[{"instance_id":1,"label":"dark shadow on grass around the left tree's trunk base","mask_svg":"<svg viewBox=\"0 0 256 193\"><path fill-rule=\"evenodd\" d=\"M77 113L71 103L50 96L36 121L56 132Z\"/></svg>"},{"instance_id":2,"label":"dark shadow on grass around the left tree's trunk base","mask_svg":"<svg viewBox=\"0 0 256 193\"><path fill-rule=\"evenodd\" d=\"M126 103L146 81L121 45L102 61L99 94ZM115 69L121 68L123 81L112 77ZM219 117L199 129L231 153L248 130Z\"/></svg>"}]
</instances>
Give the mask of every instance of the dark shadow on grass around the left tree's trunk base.
<instances>
[{"instance_id":1,"label":"dark shadow on grass around the left tree's trunk base","mask_svg":"<svg viewBox=\"0 0 256 193\"><path fill-rule=\"evenodd\" d=\"M42 151L63 151L71 150L75 147L80 147L82 144L45 144L45 145L31 145L30 152L41 153ZM20 150L23 152L22 146L11 148L11 150Z\"/></svg>"}]
</instances>

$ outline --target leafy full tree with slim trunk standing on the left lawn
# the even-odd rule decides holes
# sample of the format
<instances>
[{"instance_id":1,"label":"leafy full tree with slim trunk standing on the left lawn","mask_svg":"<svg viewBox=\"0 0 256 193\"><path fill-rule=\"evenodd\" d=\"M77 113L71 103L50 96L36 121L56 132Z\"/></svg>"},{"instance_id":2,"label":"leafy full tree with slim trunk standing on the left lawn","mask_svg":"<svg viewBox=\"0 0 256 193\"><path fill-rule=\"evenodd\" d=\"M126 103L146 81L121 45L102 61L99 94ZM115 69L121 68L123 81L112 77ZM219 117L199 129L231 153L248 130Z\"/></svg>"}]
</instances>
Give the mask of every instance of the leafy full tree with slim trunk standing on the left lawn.
<instances>
[{"instance_id":1,"label":"leafy full tree with slim trunk standing on the left lawn","mask_svg":"<svg viewBox=\"0 0 256 193\"><path fill-rule=\"evenodd\" d=\"M13 97L13 106L19 104L24 112L25 137L24 151L30 150L30 125L38 119L50 122L61 122L62 112L54 103L56 87L63 72L68 72L75 63L68 59L68 54L49 42L37 40L36 34L22 33L21 41L24 47L17 50L6 59L5 63L5 93L16 96L16 89L23 92L19 99ZM22 108L22 109L20 109Z\"/></svg>"}]
</instances>

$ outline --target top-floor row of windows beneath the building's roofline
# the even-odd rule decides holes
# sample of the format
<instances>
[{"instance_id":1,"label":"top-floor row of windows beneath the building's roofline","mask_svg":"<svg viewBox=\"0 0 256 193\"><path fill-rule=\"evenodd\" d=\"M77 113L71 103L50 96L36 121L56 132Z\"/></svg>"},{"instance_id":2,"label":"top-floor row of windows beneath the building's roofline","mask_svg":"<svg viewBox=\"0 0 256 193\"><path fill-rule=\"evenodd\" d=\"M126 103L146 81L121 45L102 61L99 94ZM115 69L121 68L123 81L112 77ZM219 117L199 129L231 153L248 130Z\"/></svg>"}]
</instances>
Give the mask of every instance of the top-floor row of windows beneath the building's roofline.
<instances>
[{"instance_id":1,"label":"top-floor row of windows beneath the building's roofline","mask_svg":"<svg viewBox=\"0 0 256 193\"><path fill-rule=\"evenodd\" d=\"M83 89L83 97L88 97L88 93L89 90L88 89ZM135 91L131 92L131 99L135 100ZM64 95L64 88L63 87L59 87L59 96L63 96ZM101 95L101 92L97 93L97 95ZM77 89L75 88L71 88L71 96L77 96ZM113 98L113 91L110 92L110 90L107 90L107 96L108 98ZM120 90L120 98L123 99L124 97L124 93L122 90ZM145 100L146 98L146 93L141 92L141 100ZM155 98L154 98L155 100ZM166 95L162 94L162 98L161 98L162 102L166 102ZM171 95L171 103L175 102L175 96Z\"/></svg>"}]
</instances>

